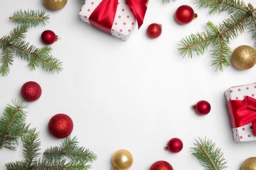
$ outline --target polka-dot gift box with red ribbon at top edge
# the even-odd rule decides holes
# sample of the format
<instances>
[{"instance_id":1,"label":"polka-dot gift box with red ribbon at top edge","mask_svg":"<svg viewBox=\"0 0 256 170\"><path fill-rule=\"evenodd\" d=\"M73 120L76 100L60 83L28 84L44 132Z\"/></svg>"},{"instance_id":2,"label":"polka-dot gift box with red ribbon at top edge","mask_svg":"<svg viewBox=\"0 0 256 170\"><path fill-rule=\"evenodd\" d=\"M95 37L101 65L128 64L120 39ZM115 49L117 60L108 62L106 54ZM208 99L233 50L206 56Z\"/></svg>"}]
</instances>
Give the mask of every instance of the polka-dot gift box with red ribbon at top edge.
<instances>
[{"instance_id":1,"label":"polka-dot gift box with red ribbon at top edge","mask_svg":"<svg viewBox=\"0 0 256 170\"><path fill-rule=\"evenodd\" d=\"M143 24L148 0L85 0L79 15L83 22L126 41L136 23Z\"/></svg>"}]
</instances>

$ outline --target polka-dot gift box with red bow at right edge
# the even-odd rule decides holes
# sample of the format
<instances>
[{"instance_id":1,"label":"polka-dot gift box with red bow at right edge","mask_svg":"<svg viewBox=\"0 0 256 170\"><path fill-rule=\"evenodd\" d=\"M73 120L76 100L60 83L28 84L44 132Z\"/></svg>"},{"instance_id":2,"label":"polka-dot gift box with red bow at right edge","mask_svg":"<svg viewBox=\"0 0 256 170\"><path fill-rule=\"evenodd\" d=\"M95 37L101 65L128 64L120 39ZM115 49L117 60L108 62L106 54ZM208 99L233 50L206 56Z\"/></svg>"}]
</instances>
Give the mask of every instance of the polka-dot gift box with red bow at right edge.
<instances>
[{"instance_id":1,"label":"polka-dot gift box with red bow at right edge","mask_svg":"<svg viewBox=\"0 0 256 170\"><path fill-rule=\"evenodd\" d=\"M256 83L225 92L234 141L256 141Z\"/></svg>"}]
</instances>

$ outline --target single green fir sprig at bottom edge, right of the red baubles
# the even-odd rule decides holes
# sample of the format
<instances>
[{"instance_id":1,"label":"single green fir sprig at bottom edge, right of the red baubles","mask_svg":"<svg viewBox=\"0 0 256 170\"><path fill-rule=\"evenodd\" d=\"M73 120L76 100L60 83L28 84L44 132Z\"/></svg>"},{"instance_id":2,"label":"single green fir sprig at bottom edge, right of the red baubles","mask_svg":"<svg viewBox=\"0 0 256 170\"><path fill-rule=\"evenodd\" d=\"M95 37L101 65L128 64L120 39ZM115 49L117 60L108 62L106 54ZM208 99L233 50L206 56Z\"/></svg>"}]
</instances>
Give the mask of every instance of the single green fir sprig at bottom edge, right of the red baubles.
<instances>
[{"instance_id":1,"label":"single green fir sprig at bottom edge, right of the red baubles","mask_svg":"<svg viewBox=\"0 0 256 170\"><path fill-rule=\"evenodd\" d=\"M221 170L225 169L226 160L221 148L216 147L210 139L196 139L194 147L191 147L192 156L196 157L205 170Z\"/></svg>"}]
</instances>

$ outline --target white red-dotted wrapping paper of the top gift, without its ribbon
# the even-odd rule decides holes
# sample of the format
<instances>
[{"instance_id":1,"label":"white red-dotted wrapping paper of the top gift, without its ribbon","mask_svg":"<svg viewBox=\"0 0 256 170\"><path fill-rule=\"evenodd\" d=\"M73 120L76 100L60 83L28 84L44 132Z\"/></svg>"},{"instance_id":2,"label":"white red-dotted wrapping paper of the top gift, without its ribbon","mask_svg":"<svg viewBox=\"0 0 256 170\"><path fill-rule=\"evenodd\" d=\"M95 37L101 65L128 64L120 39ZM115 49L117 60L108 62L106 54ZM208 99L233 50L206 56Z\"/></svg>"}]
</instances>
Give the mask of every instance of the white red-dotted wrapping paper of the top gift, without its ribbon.
<instances>
[{"instance_id":1,"label":"white red-dotted wrapping paper of the top gift, without its ribbon","mask_svg":"<svg viewBox=\"0 0 256 170\"><path fill-rule=\"evenodd\" d=\"M81 20L91 24L89 17L100 3L100 0L86 0L79 12ZM137 20L129 5L127 5L125 1L119 1L116 16L111 28L111 34L118 39L127 41L136 24Z\"/></svg>"}]
</instances>

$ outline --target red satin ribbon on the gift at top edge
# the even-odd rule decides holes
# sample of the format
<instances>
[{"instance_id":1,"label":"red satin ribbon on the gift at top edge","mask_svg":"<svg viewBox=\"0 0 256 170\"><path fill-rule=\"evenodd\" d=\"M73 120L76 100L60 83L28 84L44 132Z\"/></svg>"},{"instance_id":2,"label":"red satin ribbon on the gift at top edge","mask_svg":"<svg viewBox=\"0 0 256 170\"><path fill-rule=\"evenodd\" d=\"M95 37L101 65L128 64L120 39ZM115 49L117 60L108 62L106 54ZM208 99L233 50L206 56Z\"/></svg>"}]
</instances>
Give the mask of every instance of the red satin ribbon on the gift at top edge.
<instances>
[{"instance_id":1,"label":"red satin ribbon on the gift at top edge","mask_svg":"<svg viewBox=\"0 0 256 170\"><path fill-rule=\"evenodd\" d=\"M146 14L146 3L148 0L127 0L126 2L131 7L140 28ZM89 17L91 25L111 35L117 5L118 0L102 0Z\"/></svg>"}]
</instances>

